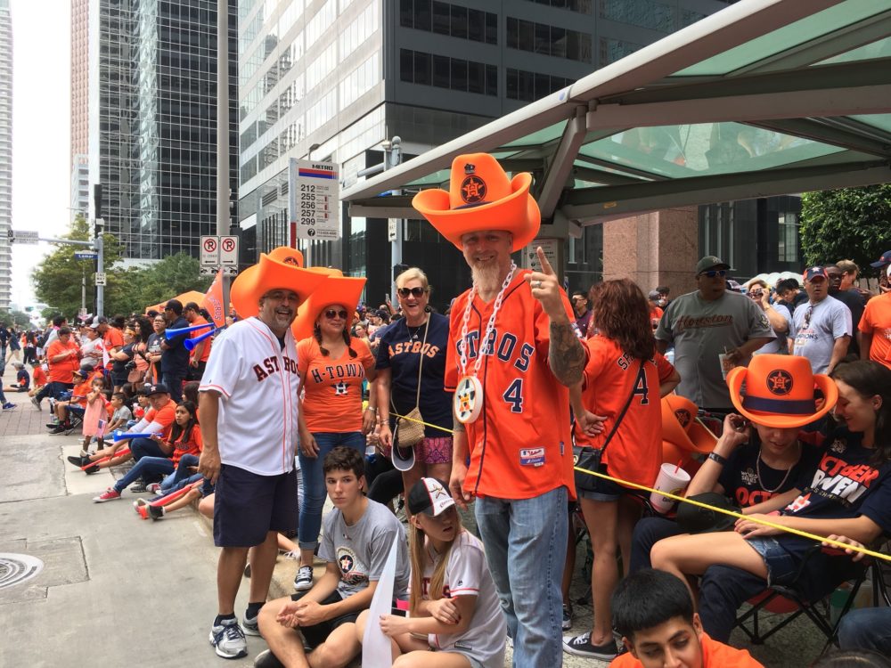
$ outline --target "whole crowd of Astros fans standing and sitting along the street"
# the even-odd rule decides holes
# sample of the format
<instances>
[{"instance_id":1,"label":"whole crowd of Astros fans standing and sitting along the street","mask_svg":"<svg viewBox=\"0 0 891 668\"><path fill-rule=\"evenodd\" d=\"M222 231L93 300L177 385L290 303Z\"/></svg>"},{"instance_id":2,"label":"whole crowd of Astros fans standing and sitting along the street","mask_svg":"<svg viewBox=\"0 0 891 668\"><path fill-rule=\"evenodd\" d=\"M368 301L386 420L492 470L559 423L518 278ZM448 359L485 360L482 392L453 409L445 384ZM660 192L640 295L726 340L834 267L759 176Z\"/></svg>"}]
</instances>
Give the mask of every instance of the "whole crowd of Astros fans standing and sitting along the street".
<instances>
[{"instance_id":1,"label":"whole crowd of Astros fans standing and sitting along the street","mask_svg":"<svg viewBox=\"0 0 891 668\"><path fill-rule=\"evenodd\" d=\"M743 602L772 584L824 597L891 534L891 251L877 296L850 261L805 268L803 286L733 289L707 256L674 299L625 279L570 299L541 249L536 271L511 260L539 230L530 184L473 154L448 191L414 198L470 266L447 314L417 267L396 278L397 305L366 309L364 278L281 247L233 282L235 322L200 343L184 330L207 314L176 300L74 330L60 316L37 340L25 389L38 409L51 399L51 434L82 424L71 463L135 460L94 501L129 486L156 494L135 499L143 517L197 499L212 515L218 656L262 635L261 668L346 666L382 633L403 667L502 668L509 643L519 668L564 652L757 666L729 646ZM689 474L689 498L740 518L658 509L633 485L666 463ZM458 512L471 502L475 530ZM593 624L564 637L579 524ZM782 527L850 549L814 553ZM388 614L372 614L394 545ZM295 593L267 601L282 549L300 562ZM858 610L841 644L891 653L889 623L887 608Z\"/></svg>"}]
</instances>

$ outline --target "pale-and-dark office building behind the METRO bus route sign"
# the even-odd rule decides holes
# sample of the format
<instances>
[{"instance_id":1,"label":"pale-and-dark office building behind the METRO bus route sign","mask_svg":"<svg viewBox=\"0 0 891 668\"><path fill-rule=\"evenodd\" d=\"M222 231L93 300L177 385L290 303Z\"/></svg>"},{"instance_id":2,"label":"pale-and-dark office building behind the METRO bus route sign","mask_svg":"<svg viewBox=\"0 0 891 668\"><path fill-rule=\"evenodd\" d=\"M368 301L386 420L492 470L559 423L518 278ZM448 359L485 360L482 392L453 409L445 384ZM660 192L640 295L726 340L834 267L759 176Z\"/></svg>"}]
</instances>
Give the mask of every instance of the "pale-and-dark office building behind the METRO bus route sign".
<instances>
[{"instance_id":1,"label":"pale-and-dark office building behind the METRO bus route sign","mask_svg":"<svg viewBox=\"0 0 891 668\"><path fill-rule=\"evenodd\" d=\"M428 151L727 4L240 0L242 260L290 241L290 158L338 162L348 186L393 136L404 158ZM402 224L405 261L429 273L445 306L470 282L465 263L429 224ZM388 222L341 211L341 233L315 244L313 264L367 275L366 300L380 303L392 281ZM597 278L600 233L568 240L572 281Z\"/></svg>"}]
</instances>

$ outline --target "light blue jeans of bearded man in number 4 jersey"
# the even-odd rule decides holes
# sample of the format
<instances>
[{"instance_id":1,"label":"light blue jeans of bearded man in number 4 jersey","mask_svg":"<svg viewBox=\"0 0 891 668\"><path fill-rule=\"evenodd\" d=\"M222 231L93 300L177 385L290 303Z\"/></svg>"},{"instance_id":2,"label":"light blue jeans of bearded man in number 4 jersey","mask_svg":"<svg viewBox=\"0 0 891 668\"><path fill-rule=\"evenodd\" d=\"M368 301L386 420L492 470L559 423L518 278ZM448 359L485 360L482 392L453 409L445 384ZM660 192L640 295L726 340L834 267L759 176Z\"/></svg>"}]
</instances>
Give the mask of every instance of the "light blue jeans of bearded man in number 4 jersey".
<instances>
[{"instance_id":1,"label":"light blue jeans of bearded man in number 4 jersey","mask_svg":"<svg viewBox=\"0 0 891 668\"><path fill-rule=\"evenodd\" d=\"M513 639L513 665L562 665L566 487L531 499L481 497L474 505L486 562Z\"/></svg>"}]
</instances>

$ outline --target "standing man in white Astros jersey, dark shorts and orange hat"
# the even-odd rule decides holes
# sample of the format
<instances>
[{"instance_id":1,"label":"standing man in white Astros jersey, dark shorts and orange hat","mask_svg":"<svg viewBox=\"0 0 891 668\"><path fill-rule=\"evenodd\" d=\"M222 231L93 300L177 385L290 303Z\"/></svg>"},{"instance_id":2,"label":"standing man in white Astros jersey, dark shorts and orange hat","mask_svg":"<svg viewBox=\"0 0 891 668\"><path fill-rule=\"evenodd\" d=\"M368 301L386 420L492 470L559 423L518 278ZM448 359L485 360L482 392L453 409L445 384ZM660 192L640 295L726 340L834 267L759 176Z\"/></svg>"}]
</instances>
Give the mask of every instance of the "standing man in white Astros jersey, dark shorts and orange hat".
<instances>
[{"instance_id":1,"label":"standing man in white Astros jersey, dark shorts and orange hat","mask_svg":"<svg viewBox=\"0 0 891 668\"><path fill-rule=\"evenodd\" d=\"M290 330L298 305L326 278L303 268L288 247L260 255L239 274L232 304L241 317L214 342L200 385L204 450L199 473L216 485L214 543L219 609L210 631L217 655L248 653L244 634L259 635L257 614L266 602L277 533L297 528L297 344ZM244 623L234 613L241 574L251 558Z\"/></svg>"}]
</instances>

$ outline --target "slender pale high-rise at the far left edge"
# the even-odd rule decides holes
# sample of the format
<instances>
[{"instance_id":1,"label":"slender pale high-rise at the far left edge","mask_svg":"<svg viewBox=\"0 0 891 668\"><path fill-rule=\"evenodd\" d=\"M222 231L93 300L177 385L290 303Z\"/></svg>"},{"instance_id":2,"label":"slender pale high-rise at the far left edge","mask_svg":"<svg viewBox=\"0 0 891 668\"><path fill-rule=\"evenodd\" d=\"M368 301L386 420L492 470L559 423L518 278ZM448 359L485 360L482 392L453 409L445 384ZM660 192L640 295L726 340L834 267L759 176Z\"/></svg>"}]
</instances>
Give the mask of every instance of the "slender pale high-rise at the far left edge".
<instances>
[{"instance_id":1,"label":"slender pale high-rise at the far left edge","mask_svg":"<svg viewBox=\"0 0 891 668\"><path fill-rule=\"evenodd\" d=\"M12 14L0 0L0 311L12 297Z\"/></svg>"}]
</instances>

